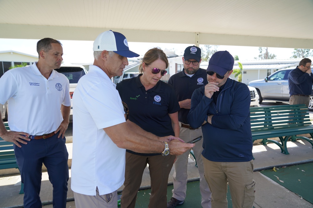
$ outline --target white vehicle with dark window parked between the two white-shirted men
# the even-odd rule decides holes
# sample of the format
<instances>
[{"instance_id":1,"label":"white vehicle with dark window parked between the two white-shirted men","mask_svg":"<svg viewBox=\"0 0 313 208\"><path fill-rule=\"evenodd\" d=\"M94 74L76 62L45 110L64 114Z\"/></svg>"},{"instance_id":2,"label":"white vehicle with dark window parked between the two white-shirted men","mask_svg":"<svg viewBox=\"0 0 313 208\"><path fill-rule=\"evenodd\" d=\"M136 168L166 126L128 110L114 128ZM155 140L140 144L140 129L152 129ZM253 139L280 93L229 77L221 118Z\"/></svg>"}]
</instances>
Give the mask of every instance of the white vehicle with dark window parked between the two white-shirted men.
<instances>
[{"instance_id":1,"label":"white vehicle with dark window parked between the two white-shirted men","mask_svg":"<svg viewBox=\"0 0 313 208\"><path fill-rule=\"evenodd\" d=\"M69 79L69 94L72 99L78 80L80 79L80 77L87 74L85 67L80 65L61 65L59 69L55 70L59 73L64 74ZM71 104L69 120L73 121L73 104Z\"/></svg>"}]
</instances>

